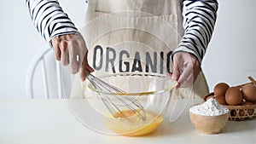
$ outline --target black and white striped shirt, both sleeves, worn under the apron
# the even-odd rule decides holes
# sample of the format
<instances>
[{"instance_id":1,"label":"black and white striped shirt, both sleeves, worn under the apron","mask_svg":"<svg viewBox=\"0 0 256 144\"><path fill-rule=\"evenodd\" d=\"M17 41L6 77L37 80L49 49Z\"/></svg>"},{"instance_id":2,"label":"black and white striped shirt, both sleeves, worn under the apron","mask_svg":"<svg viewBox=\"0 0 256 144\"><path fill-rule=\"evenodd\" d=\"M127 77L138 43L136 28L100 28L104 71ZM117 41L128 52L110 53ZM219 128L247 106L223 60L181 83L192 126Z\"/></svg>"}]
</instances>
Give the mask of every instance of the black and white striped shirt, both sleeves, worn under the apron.
<instances>
[{"instance_id":1,"label":"black and white striped shirt, both sleeves, worn under the apron","mask_svg":"<svg viewBox=\"0 0 256 144\"><path fill-rule=\"evenodd\" d=\"M33 24L47 42L52 37L79 33L57 0L26 0ZM183 0L185 33L174 53L189 52L200 61L206 54L217 18L217 0Z\"/></svg>"}]
</instances>

